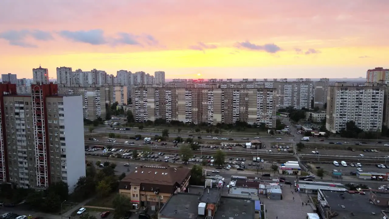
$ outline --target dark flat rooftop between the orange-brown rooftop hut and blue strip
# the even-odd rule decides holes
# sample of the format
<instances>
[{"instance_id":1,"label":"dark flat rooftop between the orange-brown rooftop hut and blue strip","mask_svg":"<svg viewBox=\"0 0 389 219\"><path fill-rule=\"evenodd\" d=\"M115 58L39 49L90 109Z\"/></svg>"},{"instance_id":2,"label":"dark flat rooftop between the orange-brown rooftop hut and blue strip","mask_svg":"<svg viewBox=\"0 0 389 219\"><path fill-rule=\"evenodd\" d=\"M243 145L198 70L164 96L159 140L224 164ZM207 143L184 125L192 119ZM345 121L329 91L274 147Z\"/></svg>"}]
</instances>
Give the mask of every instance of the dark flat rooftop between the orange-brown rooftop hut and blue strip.
<instances>
[{"instance_id":1,"label":"dark flat rooftop between the orange-brown rooftop hut and blue strip","mask_svg":"<svg viewBox=\"0 0 389 219\"><path fill-rule=\"evenodd\" d=\"M254 218L254 201L245 198L222 196L219 208L213 219L249 219Z\"/></svg>"}]
</instances>

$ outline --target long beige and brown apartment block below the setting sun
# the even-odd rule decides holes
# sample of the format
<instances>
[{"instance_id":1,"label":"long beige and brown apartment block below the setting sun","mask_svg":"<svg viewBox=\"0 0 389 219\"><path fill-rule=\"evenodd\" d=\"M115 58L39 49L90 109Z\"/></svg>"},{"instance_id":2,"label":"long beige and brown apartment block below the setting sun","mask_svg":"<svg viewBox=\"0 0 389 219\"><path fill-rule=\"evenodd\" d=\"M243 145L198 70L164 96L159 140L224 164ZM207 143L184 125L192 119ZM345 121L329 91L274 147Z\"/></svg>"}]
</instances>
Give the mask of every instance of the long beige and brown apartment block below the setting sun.
<instances>
[{"instance_id":1,"label":"long beige and brown apartment block below the setting sun","mask_svg":"<svg viewBox=\"0 0 389 219\"><path fill-rule=\"evenodd\" d=\"M133 115L138 122L158 118L167 122L208 124L237 121L275 126L277 92L273 88L199 88L142 86L132 90Z\"/></svg>"}]
</instances>

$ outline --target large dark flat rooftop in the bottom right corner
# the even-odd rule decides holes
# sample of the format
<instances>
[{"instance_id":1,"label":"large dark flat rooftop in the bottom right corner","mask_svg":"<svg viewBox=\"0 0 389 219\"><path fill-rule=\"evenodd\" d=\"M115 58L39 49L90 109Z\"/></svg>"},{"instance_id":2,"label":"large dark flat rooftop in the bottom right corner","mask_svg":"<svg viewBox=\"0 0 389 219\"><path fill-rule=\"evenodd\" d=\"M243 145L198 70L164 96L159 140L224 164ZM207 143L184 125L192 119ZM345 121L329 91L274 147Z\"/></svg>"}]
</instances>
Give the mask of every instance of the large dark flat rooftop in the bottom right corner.
<instances>
[{"instance_id":1,"label":"large dark flat rooftop in the bottom right corner","mask_svg":"<svg viewBox=\"0 0 389 219\"><path fill-rule=\"evenodd\" d=\"M336 218L378 219L382 218L381 210L388 209L372 204L367 195L344 192L321 191L328 202L331 212L337 212ZM344 198L342 198L342 196ZM344 208L342 207L344 206ZM327 208L324 208L327 209ZM372 215L375 213L375 215ZM353 214L353 215L352 215Z\"/></svg>"}]
</instances>

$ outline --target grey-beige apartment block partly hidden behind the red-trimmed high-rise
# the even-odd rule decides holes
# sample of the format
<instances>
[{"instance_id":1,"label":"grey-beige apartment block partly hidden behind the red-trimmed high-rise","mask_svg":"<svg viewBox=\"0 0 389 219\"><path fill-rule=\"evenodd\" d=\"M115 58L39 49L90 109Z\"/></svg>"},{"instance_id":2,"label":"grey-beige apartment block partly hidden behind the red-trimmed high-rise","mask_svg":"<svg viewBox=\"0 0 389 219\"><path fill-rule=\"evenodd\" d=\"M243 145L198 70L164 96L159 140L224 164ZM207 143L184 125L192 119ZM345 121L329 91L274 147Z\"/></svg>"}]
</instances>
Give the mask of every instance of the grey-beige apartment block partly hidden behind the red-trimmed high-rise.
<instances>
[{"instance_id":1,"label":"grey-beige apartment block partly hidden behind the red-trimmed high-rise","mask_svg":"<svg viewBox=\"0 0 389 219\"><path fill-rule=\"evenodd\" d=\"M58 94L81 95L84 118L95 120L97 118L105 118L106 115L105 103L106 97L109 98L109 94L106 95L105 89L103 86L96 85L90 85L89 87L79 85L72 87L59 86Z\"/></svg>"}]
</instances>

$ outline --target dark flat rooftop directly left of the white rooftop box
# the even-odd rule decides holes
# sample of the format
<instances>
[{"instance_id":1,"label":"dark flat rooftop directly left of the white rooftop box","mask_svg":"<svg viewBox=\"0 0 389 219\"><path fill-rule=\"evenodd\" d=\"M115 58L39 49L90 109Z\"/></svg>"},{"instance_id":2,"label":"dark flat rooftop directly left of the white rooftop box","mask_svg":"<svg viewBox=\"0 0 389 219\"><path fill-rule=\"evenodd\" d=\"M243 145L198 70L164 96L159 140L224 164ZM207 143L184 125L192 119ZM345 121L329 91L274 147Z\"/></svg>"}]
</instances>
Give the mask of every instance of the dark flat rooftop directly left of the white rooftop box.
<instances>
[{"instance_id":1,"label":"dark flat rooftop directly left of the white rooftop box","mask_svg":"<svg viewBox=\"0 0 389 219\"><path fill-rule=\"evenodd\" d=\"M170 196L161 208L158 217L165 216L174 219L195 219L198 214L199 195L177 193Z\"/></svg>"}]
</instances>

